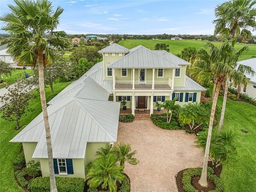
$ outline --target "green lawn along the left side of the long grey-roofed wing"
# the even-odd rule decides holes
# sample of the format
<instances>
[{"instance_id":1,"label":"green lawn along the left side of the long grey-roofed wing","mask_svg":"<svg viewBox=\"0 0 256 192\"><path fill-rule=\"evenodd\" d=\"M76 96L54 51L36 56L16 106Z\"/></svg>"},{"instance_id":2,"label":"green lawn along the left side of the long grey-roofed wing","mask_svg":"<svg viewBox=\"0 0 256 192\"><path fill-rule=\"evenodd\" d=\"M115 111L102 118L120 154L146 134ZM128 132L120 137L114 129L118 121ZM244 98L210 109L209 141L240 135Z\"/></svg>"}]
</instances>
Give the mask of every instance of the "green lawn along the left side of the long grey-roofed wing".
<instances>
[{"instance_id":1,"label":"green lawn along the left side of the long grey-roofed wing","mask_svg":"<svg viewBox=\"0 0 256 192\"><path fill-rule=\"evenodd\" d=\"M70 82L54 84L55 93L59 93ZM46 89L46 97L51 94L49 88ZM29 124L39 113L41 113L40 98L37 97L29 103L29 107L35 109L33 112L25 114L21 118L22 128ZM0 191L22 191L14 180L13 159L20 151L21 143L9 142L19 131L15 131L15 123L8 122L0 118Z\"/></svg>"}]
</instances>

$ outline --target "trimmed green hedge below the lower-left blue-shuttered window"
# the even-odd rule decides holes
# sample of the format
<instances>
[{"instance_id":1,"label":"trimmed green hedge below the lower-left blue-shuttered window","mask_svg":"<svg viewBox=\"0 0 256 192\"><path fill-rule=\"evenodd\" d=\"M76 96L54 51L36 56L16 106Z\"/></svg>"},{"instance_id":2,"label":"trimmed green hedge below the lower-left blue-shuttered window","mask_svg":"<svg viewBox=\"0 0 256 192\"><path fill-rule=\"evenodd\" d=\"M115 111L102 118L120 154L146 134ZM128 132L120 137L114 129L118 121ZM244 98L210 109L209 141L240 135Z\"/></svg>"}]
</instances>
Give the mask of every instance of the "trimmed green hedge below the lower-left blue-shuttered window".
<instances>
[{"instance_id":1,"label":"trimmed green hedge below the lower-left blue-shuttered window","mask_svg":"<svg viewBox=\"0 0 256 192\"><path fill-rule=\"evenodd\" d=\"M83 192L84 179L82 178L62 178L56 177L58 192ZM48 192L50 191L50 178L38 177L33 179L28 186L31 192Z\"/></svg>"}]
</instances>

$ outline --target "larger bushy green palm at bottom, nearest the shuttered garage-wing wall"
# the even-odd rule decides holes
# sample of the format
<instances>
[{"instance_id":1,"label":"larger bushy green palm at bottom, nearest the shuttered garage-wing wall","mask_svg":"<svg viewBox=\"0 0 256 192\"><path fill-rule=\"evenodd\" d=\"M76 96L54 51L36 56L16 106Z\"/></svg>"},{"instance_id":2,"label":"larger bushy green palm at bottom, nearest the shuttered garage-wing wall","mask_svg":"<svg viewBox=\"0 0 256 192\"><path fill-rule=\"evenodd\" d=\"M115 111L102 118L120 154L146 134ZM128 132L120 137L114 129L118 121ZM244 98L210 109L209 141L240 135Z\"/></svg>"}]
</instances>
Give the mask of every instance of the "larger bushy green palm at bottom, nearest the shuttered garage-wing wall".
<instances>
[{"instance_id":1,"label":"larger bushy green palm at bottom, nearest the shuttered garage-wing wall","mask_svg":"<svg viewBox=\"0 0 256 192\"><path fill-rule=\"evenodd\" d=\"M92 163L86 179L88 185L93 188L101 186L110 192L117 191L116 182L122 183L125 179L124 167L117 164L117 157L113 153L102 155Z\"/></svg>"}]
</instances>

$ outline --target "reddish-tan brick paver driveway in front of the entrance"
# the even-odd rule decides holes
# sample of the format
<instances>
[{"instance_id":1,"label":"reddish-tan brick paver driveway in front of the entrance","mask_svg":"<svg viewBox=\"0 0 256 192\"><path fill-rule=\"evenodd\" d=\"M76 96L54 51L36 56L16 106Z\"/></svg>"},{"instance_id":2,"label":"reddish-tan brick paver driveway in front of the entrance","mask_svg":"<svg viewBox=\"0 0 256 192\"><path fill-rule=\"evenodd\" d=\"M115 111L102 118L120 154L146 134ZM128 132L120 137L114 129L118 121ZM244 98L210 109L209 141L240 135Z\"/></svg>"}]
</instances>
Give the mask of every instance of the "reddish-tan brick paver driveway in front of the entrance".
<instances>
[{"instance_id":1,"label":"reddish-tan brick paver driveway in front of the entrance","mask_svg":"<svg viewBox=\"0 0 256 192\"><path fill-rule=\"evenodd\" d=\"M178 191L175 174L203 164L203 150L195 147L195 136L182 130L162 130L150 120L119 123L117 142L138 150L138 165L125 165L131 191Z\"/></svg>"}]
</instances>

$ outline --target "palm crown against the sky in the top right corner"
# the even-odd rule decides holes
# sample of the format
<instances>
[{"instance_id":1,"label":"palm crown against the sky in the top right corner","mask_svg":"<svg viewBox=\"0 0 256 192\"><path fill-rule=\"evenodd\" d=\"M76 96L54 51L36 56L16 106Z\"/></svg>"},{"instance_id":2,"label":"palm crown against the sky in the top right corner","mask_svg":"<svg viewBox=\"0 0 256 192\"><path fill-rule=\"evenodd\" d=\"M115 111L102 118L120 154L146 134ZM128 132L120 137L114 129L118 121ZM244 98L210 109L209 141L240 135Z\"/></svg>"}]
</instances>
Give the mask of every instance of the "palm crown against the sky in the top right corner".
<instances>
[{"instance_id":1,"label":"palm crown against the sky in the top right corner","mask_svg":"<svg viewBox=\"0 0 256 192\"><path fill-rule=\"evenodd\" d=\"M242 41L252 37L251 30L256 29L255 0L233 0L215 8L214 34L226 38L242 36Z\"/></svg>"}]
</instances>

